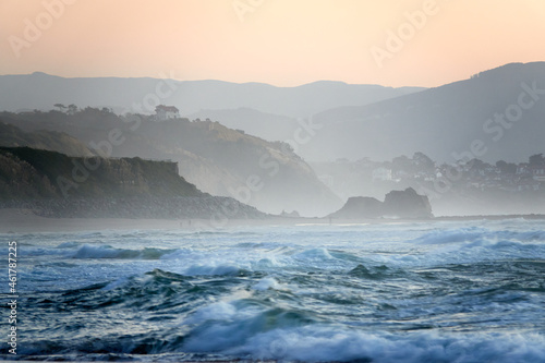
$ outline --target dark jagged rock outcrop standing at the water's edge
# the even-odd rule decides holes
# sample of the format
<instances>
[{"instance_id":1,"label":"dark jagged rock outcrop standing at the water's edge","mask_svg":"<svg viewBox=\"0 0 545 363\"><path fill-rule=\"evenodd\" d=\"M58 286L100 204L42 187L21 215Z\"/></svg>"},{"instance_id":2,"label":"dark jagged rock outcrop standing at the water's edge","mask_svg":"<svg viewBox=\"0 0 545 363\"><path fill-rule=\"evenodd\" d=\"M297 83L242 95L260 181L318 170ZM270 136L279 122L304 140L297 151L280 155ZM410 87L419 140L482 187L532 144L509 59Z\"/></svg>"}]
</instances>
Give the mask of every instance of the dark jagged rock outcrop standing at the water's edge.
<instances>
[{"instance_id":1,"label":"dark jagged rock outcrop standing at the water's edge","mask_svg":"<svg viewBox=\"0 0 545 363\"><path fill-rule=\"evenodd\" d=\"M344 206L328 216L336 219L362 218L431 218L432 205L427 196L417 194L412 187L391 191L385 201L365 196L350 197Z\"/></svg>"}]
</instances>

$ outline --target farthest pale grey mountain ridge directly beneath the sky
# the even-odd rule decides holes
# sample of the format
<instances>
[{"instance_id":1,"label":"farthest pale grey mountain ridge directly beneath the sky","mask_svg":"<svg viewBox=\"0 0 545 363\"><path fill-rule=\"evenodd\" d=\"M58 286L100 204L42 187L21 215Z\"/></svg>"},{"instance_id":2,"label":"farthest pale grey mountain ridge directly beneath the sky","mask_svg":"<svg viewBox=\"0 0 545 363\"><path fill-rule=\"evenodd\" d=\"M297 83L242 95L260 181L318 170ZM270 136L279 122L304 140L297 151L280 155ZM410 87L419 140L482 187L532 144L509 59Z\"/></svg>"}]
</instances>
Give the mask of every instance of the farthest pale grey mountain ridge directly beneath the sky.
<instances>
[{"instance_id":1,"label":"farthest pale grey mountain ridge directly beneath the sky","mask_svg":"<svg viewBox=\"0 0 545 363\"><path fill-rule=\"evenodd\" d=\"M186 116L202 109L252 108L287 117L308 117L340 106L367 105L422 87L391 88L320 81L296 87L223 81L175 81L152 77L64 78L41 72L0 75L0 111L50 110L56 104L111 107L121 112L145 110L159 99ZM135 109L135 104L140 105ZM155 106L154 106L155 107ZM149 108L149 107L148 107ZM152 109L147 111L153 112Z\"/></svg>"}]
</instances>

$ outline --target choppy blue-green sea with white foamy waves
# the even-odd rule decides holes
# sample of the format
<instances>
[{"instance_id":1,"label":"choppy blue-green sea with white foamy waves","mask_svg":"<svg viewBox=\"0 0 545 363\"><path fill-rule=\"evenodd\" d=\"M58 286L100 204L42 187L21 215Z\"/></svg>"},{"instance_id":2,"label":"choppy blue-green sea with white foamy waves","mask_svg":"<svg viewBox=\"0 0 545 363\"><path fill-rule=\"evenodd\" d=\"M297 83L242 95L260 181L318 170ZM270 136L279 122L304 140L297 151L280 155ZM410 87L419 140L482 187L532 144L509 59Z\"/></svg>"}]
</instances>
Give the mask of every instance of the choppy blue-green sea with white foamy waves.
<instances>
[{"instance_id":1,"label":"choppy blue-green sea with white foamy waves","mask_svg":"<svg viewBox=\"0 0 545 363\"><path fill-rule=\"evenodd\" d=\"M545 362L545 221L1 240L15 359Z\"/></svg>"}]
</instances>

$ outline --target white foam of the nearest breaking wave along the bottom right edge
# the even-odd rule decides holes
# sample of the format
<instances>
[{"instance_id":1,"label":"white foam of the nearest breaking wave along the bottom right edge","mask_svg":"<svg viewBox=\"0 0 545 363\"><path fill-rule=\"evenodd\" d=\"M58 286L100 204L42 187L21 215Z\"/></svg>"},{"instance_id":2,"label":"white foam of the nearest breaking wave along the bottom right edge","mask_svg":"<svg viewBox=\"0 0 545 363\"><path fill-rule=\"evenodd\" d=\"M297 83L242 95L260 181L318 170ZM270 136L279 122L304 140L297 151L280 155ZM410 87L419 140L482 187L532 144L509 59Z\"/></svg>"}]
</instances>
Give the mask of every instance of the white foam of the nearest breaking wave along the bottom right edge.
<instances>
[{"instance_id":1,"label":"white foam of the nearest breaking wave along the bottom right edge","mask_svg":"<svg viewBox=\"0 0 545 363\"><path fill-rule=\"evenodd\" d=\"M244 324L233 324L230 328L208 329L186 348L302 362L545 362L545 337L536 334L379 334L313 326L254 335L240 330L252 328Z\"/></svg>"}]
</instances>

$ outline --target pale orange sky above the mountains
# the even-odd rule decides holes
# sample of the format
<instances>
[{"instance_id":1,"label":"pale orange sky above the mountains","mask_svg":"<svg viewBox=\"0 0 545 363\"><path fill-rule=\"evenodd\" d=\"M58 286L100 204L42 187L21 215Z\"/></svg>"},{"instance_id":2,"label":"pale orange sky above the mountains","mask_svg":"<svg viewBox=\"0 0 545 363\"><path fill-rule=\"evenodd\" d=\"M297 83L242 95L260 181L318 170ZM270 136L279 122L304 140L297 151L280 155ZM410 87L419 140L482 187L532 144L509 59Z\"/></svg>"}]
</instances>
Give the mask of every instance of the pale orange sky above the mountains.
<instances>
[{"instance_id":1,"label":"pale orange sky above the mountains","mask_svg":"<svg viewBox=\"0 0 545 363\"><path fill-rule=\"evenodd\" d=\"M0 74L429 87L544 61L544 0L0 0Z\"/></svg>"}]
</instances>

